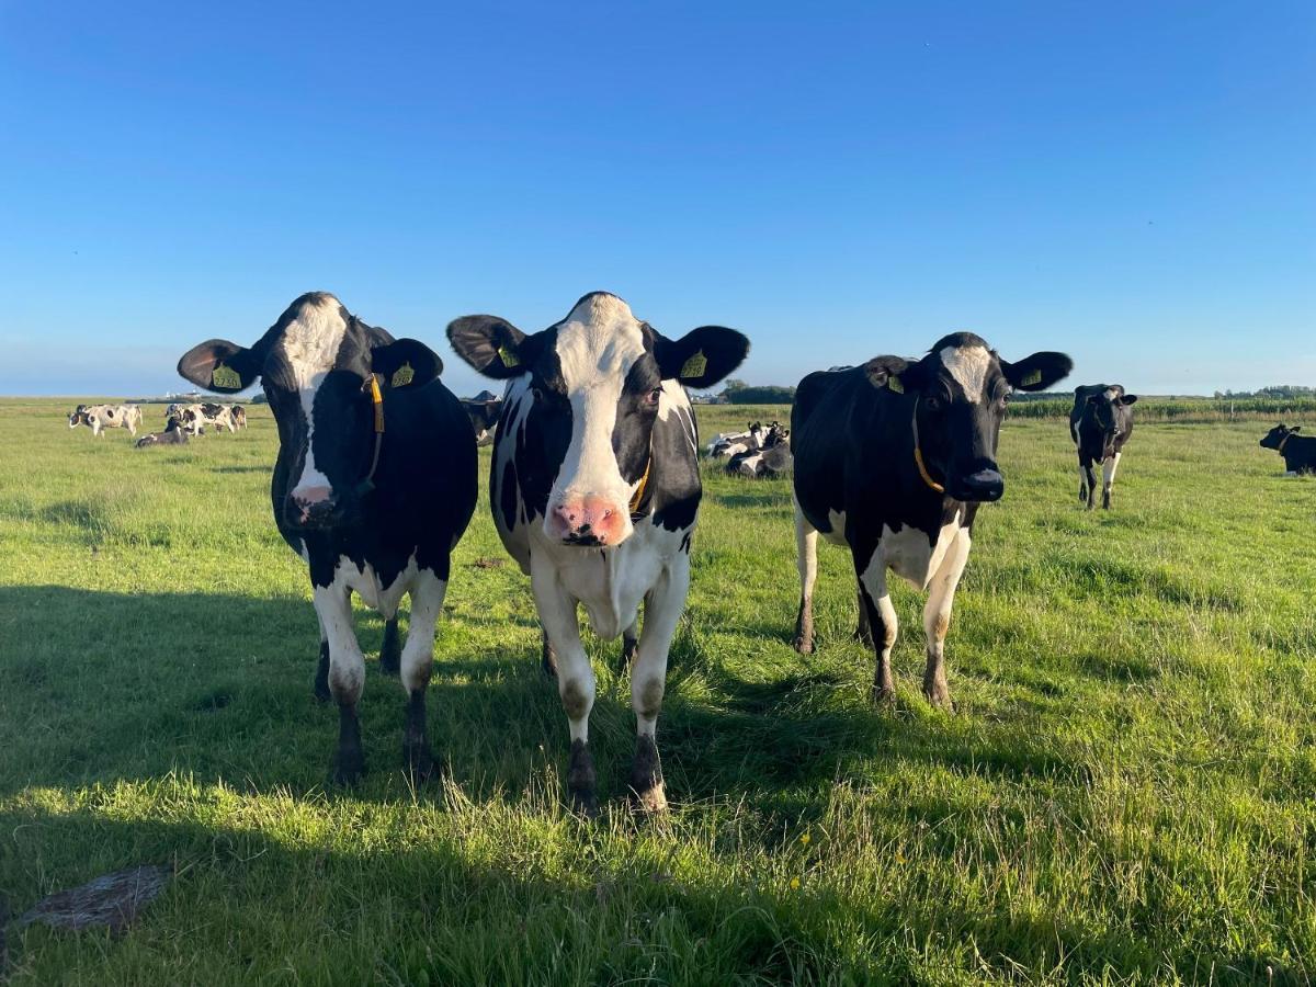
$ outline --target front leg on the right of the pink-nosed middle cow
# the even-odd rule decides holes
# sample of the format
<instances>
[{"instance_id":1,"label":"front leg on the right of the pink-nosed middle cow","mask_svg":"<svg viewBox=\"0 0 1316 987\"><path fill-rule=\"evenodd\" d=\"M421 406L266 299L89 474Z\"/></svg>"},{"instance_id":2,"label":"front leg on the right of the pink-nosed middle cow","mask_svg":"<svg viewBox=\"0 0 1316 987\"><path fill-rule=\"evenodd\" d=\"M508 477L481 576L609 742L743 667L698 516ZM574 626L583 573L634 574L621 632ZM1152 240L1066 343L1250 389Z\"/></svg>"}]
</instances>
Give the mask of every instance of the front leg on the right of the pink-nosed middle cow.
<instances>
[{"instance_id":1,"label":"front leg on the right of the pink-nosed middle cow","mask_svg":"<svg viewBox=\"0 0 1316 987\"><path fill-rule=\"evenodd\" d=\"M645 629L630 671L630 705L636 711L636 757L630 763L630 804L640 812L662 812L667 794L658 759L658 712L667 687L667 654L690 591L690 557L678 553L645 597Z\"/></svg>"}]
</instances>

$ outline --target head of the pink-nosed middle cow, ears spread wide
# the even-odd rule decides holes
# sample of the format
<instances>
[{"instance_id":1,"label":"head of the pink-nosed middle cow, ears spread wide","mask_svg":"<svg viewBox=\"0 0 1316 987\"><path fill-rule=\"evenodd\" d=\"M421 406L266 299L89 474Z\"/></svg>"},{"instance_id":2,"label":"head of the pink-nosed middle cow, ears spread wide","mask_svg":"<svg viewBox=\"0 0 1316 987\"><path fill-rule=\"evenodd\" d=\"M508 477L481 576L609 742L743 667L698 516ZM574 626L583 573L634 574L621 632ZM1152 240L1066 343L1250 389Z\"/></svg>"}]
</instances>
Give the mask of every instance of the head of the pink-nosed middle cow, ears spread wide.
<instances>
[{"instance_id":1,"label":"head of the pink-nosed middle cow, ears spread wide","mask_svg":"<svg viewBox=\"0 0 1316 987\"><path fill-rule=\"evenodd\" d=\"M749 351L749 340L716 325L669 340L605 292L586 295L538 333L467 316L447 326L447 338L480 374L528 380L526 428L553 474L546 503L530 507L544 513L550 540L582 546L630 536L629 501L649 468L665 382L712 387Z\"/></svg>"}]
</instances>

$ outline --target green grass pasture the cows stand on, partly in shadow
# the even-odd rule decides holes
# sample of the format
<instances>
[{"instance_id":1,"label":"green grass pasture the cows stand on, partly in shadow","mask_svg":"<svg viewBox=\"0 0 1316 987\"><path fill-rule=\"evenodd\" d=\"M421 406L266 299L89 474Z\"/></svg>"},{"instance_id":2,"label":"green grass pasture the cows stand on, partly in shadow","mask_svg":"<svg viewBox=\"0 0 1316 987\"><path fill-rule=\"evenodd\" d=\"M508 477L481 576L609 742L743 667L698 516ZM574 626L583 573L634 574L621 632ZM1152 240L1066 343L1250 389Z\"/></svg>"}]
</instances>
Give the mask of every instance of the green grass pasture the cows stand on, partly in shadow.
<instances>
[{"instance_id":1,"label":"green grass pasture the cows stand on, partly in shadow","mask_svg":"<svg viewBox=\"0 0 1316 987\"><path fill-rule=\"evenodd\" d=\"M132 865L176 878L121 937L11 933L12 983L1316 976L1316 480L1279 476L1265 425L1140 426L1115 509L1086 513L1066 424L1007 421L954 713L921 699L903 584L899 701L870 708L837 549L819 651L795 654L788 486L708 467L658 732L672 811L624 811L629 688L591 638L588 825L528 583L474 565L503 558L483 500L430 687L445 780L408 787L403 692L370 662L371 772L337 791L267 409L142 451L66 411L0 403L0 891L18 915ZM771 411L703 408L701 430Z\"/></svg>"}]
</instances>

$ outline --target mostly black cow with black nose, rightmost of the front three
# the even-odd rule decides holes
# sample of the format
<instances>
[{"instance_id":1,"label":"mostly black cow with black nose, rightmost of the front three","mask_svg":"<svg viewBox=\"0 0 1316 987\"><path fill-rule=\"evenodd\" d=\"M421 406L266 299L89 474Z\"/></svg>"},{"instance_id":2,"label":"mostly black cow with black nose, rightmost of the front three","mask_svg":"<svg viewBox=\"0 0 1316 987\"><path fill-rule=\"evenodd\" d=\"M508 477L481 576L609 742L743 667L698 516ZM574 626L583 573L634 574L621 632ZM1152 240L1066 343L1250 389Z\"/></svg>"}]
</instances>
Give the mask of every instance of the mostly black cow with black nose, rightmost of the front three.
<instances>
[{"instance_id":1,"label":"mostly black cow with black nose, rightmost of the front three","mask_svg":"<svg viewBox=\"0 0 1316 987\"><path fill-rule=\"evenodd\" d=\"M969 561L978 505L1005 480L996 441L1011 390L1040 391L1069 374L1063 353L1001 359L973 333L937 341L921 359L875 357L862 367L809 374L795 392L795 537L800 608L795 647L813 650L817 537L846 545L859 596L858 636L876 654L874 701L894 692L896 612L887 570L928 592L923 690L950 705L945 638Z\"/></svg>"}]
</instances>

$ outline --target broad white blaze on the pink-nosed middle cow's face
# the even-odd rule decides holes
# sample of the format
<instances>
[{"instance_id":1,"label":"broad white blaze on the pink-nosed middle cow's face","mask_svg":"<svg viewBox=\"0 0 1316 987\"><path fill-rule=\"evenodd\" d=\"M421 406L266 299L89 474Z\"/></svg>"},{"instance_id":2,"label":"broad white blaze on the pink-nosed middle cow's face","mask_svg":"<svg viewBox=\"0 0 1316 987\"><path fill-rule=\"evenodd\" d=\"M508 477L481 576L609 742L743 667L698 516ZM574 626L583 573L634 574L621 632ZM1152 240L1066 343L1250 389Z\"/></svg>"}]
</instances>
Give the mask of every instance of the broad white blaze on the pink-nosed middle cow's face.
<instances>
[{"instance_id":1,"label":"broad white blaze on the pink-nosed middle cow's face","mask_svg":"<svg viewBox=\"0 0 1316 987\"><path fill-rule=\"evenodd\" d=\"M640 321L621 299L591 295L558 325L557 354L571 403L571 443L549 503L594 494L624 507L634 488L621 478L612 429L626 374L645 354Z\"/></svg>"}]
</instances>

